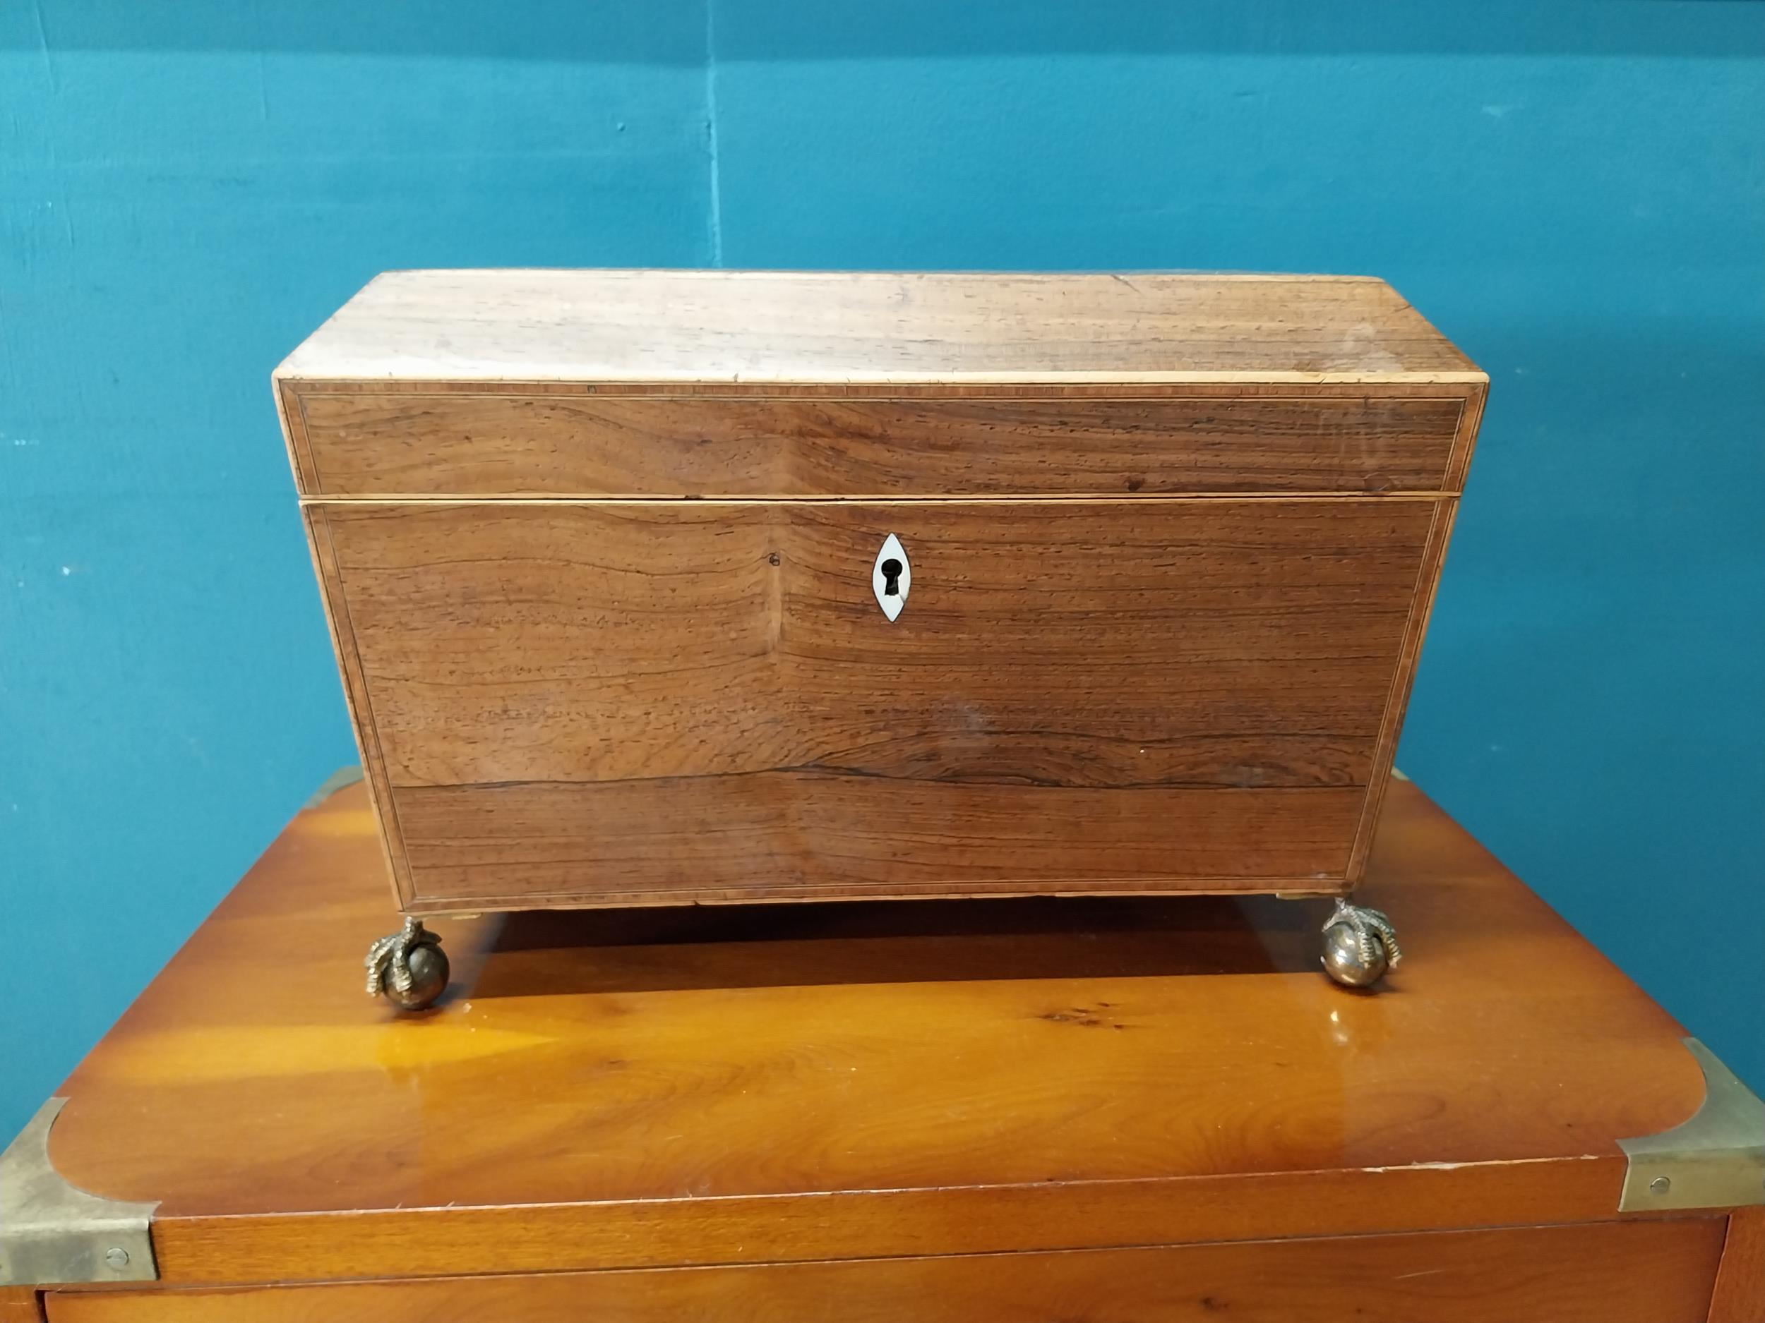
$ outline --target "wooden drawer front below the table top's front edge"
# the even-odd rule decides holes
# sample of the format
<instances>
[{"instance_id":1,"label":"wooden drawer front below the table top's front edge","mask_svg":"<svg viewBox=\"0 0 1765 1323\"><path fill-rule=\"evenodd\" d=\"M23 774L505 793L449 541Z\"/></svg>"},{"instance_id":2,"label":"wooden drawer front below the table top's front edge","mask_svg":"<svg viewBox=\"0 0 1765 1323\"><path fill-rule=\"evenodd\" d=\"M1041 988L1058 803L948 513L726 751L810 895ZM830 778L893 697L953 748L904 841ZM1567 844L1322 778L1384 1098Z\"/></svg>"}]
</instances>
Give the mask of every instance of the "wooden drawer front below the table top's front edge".
<instances>
[{"instance_id":1,"label":"wooden drawer front below the table top's front edge","mask_svg":"<svg viewBox=\"0 0 1765 1323\"><path fill-rule=\"evenodd\" d=\"M1703 1323L1723 1217L49 1297L49 1323Z\"/></svg>"}]
</instances>

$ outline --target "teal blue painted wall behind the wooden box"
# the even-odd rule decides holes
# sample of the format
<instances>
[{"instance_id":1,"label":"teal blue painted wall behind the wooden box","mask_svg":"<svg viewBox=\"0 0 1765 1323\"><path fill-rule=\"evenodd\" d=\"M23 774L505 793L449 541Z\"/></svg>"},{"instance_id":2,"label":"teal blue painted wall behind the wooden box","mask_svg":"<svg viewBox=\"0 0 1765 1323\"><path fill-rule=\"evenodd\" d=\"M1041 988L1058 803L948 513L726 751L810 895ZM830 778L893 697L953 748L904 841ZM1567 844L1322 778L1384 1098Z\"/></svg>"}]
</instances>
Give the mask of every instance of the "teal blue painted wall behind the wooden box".
<instances>
[{"instance_id":1,"label":"teal blue painted wall behind the wooden box","mask_svg":"<svg viewBox=\"0 0 1765 1323\"><path fill-rule=\"evenodd\" d=\"M1765 1087L1765 5L0 0L0 1132L351 760L270 367L427 265L1389 277L1400 764Z\"/></svg>"}]
</instances>

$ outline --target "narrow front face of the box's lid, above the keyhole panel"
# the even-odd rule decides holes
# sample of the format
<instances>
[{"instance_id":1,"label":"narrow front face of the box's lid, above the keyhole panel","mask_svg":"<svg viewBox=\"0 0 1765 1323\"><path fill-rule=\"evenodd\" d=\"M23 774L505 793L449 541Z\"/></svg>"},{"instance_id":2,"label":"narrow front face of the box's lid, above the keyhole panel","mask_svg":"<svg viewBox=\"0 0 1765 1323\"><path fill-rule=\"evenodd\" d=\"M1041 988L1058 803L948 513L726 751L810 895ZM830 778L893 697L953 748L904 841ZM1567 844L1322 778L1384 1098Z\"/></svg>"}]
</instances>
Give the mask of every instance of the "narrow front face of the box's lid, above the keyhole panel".
<instances>
[{"instance_id":1,"label":"narrow front face of the box's lid, above the keyhole panel","mask_svg":"<svg viewBox=\"0 0 1765 1323\"><path fill-rule=\"evenodd\" d=\"M1467 397L286 388L307 496L1446 490ZM1461 464L1456 466L1461 469Z\"/></svg>"}]
</instances>

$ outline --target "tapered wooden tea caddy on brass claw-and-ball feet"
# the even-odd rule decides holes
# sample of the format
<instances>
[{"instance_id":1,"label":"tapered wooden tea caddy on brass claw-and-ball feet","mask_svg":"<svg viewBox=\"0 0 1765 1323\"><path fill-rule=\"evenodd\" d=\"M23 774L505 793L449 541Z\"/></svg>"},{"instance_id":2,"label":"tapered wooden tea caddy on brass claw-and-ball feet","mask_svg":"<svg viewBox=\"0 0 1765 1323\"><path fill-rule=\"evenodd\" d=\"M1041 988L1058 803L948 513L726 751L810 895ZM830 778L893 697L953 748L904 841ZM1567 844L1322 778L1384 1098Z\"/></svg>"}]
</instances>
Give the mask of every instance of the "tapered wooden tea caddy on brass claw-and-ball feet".
<instances>
[{"instance_id":1,"label":"tapered wooden tea caddy on brass claw-and-ball feet","mask_svg":"<svg viewBox=\"0 0 1765 1323\"><path fill-rule=\"evenodd\" d=\"M275 370L406 916L1334 896L1488 377L1366 277L390 272Z\"/></svg>"}]
</instances>

